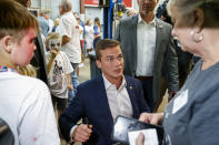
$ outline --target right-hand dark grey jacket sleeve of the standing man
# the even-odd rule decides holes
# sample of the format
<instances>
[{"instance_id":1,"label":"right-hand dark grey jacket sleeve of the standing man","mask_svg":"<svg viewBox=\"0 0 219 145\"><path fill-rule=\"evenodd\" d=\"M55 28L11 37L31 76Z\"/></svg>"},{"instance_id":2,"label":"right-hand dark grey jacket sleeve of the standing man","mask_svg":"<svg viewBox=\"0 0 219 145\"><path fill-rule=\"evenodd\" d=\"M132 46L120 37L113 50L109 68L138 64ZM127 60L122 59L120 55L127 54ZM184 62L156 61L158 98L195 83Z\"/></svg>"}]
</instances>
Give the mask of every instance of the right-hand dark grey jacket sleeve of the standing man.
<instances>
[{"instance_id":1,"label":"right-hand dark grey jacket sleeve of the standing man","mask_svg":"<svg viewBox=\"0 0 219 145\"><path fill-rule=\"evenodd\" d=\"M171 37L167 54L169 91L179 90L178 56L175 46L173 38Z\"/></svg>"}]
</instances>

